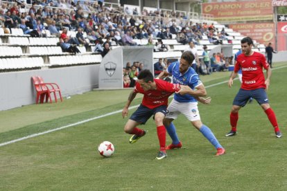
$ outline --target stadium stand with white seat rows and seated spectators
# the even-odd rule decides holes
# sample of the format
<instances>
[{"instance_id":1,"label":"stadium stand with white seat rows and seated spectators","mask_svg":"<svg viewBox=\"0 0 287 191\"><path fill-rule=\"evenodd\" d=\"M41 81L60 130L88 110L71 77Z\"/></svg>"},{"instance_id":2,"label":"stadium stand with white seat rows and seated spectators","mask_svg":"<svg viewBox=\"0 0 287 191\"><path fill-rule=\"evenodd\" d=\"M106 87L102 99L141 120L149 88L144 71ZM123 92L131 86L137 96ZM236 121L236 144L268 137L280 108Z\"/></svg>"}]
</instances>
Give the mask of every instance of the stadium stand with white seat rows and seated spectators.
<instances>
[{"instance_id":1,"label":"stadium stand with white seat rows and seated spectators","mask_svg":"<svg viewBox=\"0 0 287 191\"><path fill-rule=\"evenodd\" d=\"M13 3L15 2L0 1L6 10L12 8ZM218 46L214 42L232 44L234 53L241 48L240 40L243 38L243 35L223 24L211 20L188 19L187 17L192 15L191 13L178 10L173 12L172 10L143 7L141 11L139 6L123 5L121 7L117 3L106 3L101 9L93 1L88 3L81 1L78 9L73 10L68 8L71 7L69 2L65 5L58 1L49 3L40 1L38 3L39 5L36 3L23 6L18 2L17 17L24 19L26 26L35 30L36 34L40 26L43 26L42 32L38 33L40 37L35 37L33 33L26 34L21 29L20 24L12 25L6 22L4 24L6 28L0 27L0 72L98 64L101 62L101 55L94 53L96 44L90 40L92 31L95 33L96 41L103 38L105 42L106 38L110 37L112 48L120 46L119 41L124 38L124 31L130 31L132 41L139 46L155 46L157 39L162 39L163 44L168 45L170 49L168 52L155 52L154 60L159 57L179 58L182 51L188 47L188 45L180 43L180 34L184 35L187 42L190 40L196 42L200 56L203 52L203 46L207 46L209 51ZM36 16L35 21L40 21L40 25L35 24L32 15ZM132 18L134 19L132 20ZM51 35L49 30L53 20L56 21L55 27L59 35L63 28L67 28L67 37L76 39L75 41L78 39L77 28L84 28L82 36L89 42L89 46L79 46L77 42L73 42L76 43L80 53L77 55L64 53L59 46L59 38ZM210 30L209 25L212 25L214 29ZM166 28L170 28L171 39L164 36ZM225 30L226 35L220 39L218 35L222 30ZM120 33L119 38L121 39L112 35L111 32L115 33L116 31ZM151 39L152 44L149 43L149 39ZM121 45L126 44L122 41ZM264 53L265 46L256 44L254 50ZM7 63L8 60L9 63ZM39 62L35 63L35 60Z\"/></svg>"}]
</instances>

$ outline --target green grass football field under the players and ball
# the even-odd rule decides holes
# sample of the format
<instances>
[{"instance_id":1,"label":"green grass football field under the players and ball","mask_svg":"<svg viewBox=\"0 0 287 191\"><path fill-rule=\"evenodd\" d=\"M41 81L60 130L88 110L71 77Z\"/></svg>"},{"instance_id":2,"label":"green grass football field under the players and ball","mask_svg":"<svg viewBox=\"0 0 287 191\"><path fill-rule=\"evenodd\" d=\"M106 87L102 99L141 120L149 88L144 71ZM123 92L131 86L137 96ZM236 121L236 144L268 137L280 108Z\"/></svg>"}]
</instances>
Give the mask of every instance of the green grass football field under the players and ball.
<instances>
[{"instance_id":1,"label":"green grass football field under the players and ball","mask_svg":"<svg viewBox=\"0 0 287 191\"><path fill-rule=\"evenodd\" d=\"M209 87L228 80L228 72L214 73L202 76L212 102L199 104L199 109L202 122L227 149L224 156L214 156L214 147L180 116L175 125L183 148L156 161L159 144L153 120L141 126L148 134L130 145L130 136L123 132L128 119L119 112L0 147L0 190L287 190L287 64L275 66L268 96L282 138L275 138L256 102L241 109L238 135L226 138L240 83L236 80L232 89L227 83ZM129 93L92 91L60 103L0 111L0 144L121 111ZM132 105L140 103L141 96L137 98ZM114 144L111 158L97 152L103 140Z\"/></svg>"}]
</instances>

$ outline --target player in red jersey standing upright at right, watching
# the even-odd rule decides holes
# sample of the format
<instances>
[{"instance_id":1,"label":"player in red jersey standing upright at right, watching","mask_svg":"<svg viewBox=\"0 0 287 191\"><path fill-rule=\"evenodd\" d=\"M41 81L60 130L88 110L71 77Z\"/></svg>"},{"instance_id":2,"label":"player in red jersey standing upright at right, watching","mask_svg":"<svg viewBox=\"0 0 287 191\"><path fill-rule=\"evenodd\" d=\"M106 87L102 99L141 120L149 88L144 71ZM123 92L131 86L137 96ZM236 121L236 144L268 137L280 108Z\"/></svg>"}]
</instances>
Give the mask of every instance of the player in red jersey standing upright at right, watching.
<instances>
[{"instance_id":1,"label":"player in red jersey standing upright at right, watching","mask_svg":"<svg viewBox=\"0 0 287 191\"><path fill-rule=\"evenodd\" d=\"M238 55L234 71L230 75L228 85L232 87L233 79L236 77L239 69L242 69L242 84L233 101L232 111L230 113L231 131L225 136L235 136L237 133L236 125L238 121L238 111L244 107L247 101L254 98L265 111L270 120L277 138L282 136L277 124L274 111L268 102L266 91L270 84L271 69L266 62L266 58L261 53L252 51L253 41L250 37L241 40L243 54ZM266 79L264 78L263 68L266 69Z\"/></svg>"}]
</instances>

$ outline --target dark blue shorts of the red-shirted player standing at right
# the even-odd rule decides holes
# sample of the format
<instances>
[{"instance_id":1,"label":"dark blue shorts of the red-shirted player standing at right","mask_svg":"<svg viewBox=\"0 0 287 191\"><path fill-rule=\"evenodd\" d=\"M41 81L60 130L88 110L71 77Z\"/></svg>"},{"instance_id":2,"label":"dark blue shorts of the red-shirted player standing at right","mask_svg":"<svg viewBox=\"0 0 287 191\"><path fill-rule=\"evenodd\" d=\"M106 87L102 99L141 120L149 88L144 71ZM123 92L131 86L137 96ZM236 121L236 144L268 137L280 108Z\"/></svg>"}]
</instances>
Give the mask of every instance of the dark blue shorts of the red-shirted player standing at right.
<instances>
[{"instance_id":1,"label":"dark blue shorts of the red-shirted player standing at right","mask_svg":"<svg viewBox=\"0 0 287 191\"><path fill-rule=\"evenodd\" d=\"M244 107L250 98L254 98L259 104L269 103L265 89L259 88L252 90L239 89L233 104Z\"/></svg>"}]
</instances>

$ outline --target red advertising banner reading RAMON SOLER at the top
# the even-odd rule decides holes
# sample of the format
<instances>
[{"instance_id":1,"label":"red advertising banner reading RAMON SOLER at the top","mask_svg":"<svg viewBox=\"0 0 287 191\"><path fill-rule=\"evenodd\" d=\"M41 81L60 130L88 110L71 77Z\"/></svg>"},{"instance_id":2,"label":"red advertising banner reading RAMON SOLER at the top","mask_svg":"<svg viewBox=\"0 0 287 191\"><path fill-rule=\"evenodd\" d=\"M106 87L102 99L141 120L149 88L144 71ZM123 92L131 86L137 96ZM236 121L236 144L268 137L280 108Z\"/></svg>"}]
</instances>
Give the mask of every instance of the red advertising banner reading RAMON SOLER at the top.
<instances>
[{"instance_id":1,"label":"red advertising banner reading RAMON SOLER at the top","mask_svg":"<svg viewBox=\"0 0 287 191\"><path fill-rule=\"evenodd\" d=\"M202 13L214 15L216 21L272 20L272 1L202 3Z\"/></svg>"}]
</instances>

